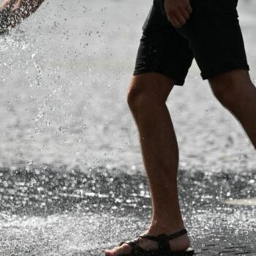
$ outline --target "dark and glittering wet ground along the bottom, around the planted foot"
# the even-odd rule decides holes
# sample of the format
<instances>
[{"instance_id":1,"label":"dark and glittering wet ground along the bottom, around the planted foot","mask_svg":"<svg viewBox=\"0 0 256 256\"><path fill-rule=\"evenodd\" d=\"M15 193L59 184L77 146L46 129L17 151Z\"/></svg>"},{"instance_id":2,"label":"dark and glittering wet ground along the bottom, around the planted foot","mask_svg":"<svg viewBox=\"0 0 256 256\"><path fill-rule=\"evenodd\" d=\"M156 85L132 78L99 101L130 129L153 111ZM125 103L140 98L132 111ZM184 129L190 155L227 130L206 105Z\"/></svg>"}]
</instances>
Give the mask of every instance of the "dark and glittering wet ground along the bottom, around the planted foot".
<instances>
[{"instance_id":1,"label":"dark and glittering wet ground along the bottom, around the planted foot","mask_svg":"<svg viewBox=\"0 0 256 256\"><path fill-rule=\"evenodd\" d=\"M151 200L143 174L105 167L65 172L50 166L0 170L0 255L100 255L146 230ZM192 244L255 247L256 209L225 200L253 198L256 173L179 171ZM216 251L217 252L217 251Z\"/></svg>"}]
</instances>

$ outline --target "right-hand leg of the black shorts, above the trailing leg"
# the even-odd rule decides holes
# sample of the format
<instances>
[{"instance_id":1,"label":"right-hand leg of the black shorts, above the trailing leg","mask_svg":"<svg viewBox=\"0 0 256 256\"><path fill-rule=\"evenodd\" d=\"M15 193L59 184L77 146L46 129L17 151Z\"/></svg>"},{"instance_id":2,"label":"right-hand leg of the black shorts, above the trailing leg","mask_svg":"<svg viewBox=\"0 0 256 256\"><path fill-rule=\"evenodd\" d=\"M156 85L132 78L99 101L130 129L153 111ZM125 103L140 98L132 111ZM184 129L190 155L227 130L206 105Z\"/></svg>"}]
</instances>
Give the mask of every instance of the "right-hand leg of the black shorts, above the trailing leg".
<instances>
[{"instance_id":1,"label":"right-hand leg of the black shorts, above the trailing leg","mask_svg":"<svg viewBox=\"0 0 256 256\"><path fill-rule=\"evenodd\" d=\"M244 39L237 0L190 0L193 12L177 31L189 41L203 79L233 69L246 69Z\"/></svg>"}]
</instances>

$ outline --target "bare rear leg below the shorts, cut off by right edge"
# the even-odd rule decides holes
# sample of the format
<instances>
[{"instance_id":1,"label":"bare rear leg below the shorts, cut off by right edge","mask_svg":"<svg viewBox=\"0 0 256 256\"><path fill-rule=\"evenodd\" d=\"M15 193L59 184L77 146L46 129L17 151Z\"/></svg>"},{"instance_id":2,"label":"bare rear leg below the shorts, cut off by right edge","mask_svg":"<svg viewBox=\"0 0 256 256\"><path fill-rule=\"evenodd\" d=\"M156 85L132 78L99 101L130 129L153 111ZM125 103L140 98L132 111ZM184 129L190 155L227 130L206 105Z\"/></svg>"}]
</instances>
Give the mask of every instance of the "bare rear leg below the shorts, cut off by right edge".
<instances>
[{"instance_id":1,"label":"bare rear leg below the shorts, cut off by right edge","mask_svg":"<svg viewBox=\"0 0 256 256\"><path fill-rule=\"evenodd\" d=\"M256 149L256 88L248 71L225 72L209 82L219 102L240 121Z\"/></svg>"}]
</instances>

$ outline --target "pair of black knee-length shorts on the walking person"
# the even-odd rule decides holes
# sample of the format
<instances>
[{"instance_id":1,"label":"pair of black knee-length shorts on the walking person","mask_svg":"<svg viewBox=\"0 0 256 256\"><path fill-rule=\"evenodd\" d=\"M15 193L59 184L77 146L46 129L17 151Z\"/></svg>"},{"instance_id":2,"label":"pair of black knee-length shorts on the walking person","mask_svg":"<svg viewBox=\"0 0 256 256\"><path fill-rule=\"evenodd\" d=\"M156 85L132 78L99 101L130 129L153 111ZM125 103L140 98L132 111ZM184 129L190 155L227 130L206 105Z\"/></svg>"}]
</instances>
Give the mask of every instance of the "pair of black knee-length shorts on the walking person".
<instances>
[{"instance_id":1,"label":"pair of black knee-length shorts on the walking person","mask_svg":"<svg viewBox=\"0 0 256 256\"><path fill-rule=\"evenodd\" d=\"M181 28L167 20L164 0L154 0L143 25L134 75L159 72L182 86L195 57L203 79L249 66L236 10L238 0L190 0Z\"/></svg>"}]
</instances>

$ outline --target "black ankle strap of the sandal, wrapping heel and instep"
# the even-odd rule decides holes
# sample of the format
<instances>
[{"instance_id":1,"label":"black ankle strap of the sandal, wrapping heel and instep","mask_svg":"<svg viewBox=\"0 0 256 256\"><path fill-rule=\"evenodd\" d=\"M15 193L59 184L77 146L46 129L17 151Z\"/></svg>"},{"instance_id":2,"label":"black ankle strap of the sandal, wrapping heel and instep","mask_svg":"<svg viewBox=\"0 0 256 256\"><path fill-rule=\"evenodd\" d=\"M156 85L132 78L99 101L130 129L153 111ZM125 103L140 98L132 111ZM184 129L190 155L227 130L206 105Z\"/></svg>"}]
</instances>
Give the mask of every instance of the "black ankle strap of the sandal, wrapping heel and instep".
<instances>
[{"instance_id":1,"label":"black ankle strap of the sandal, wrapping heel and instep","mask_svg":"<svg viewBox=\"0 0 256 256\"><path fill-rule=\"evenodd\" d=\"M178 231L178 232L170 234L170 235L167 235L167 234L164 234L164 233L162 233L158 236L153 236L153 235L150 235L150 234L144 234L144 235L140 235L140 237L141 238L146 238L146 239L149 239L149 240L152 240L152 241L157 241L159 249L169 251L170 250L169 240L172 240L174 238L178 238L179 236L183 236L185 234L187 234L186 229Z\"/></svg>"}]
</instances>

